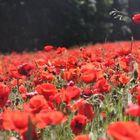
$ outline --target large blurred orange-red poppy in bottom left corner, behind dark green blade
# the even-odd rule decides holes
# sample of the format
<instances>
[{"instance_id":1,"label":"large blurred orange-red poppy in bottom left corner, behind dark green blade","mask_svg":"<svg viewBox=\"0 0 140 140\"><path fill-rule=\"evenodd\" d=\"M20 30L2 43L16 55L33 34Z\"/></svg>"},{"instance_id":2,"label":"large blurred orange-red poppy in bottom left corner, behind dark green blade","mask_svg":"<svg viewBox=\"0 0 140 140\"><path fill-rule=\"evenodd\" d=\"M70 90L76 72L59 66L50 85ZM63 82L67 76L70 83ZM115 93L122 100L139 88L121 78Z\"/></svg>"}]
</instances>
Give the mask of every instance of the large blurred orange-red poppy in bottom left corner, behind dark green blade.
<instances>
[{"instance_id":1,"label":"large blurred orange-red poppy in bottom left corner, behind dark green blade","mask_svg":"<svg viewBox=\"0 0 140 140\"><path fill-rule=\"evenodd\" d=\"M11 111L7 110L3 113L3 128L5 130L14 130L18 132L21 135L22 140L28 140L28 128L29 125L31 125L31 133L32 139L33 140L38 140L35 127L32 124L32 121L29 122L29 117L30 120L32 120L32 117L29 113L25 111Z\"/></svg>"}]
</instances>

